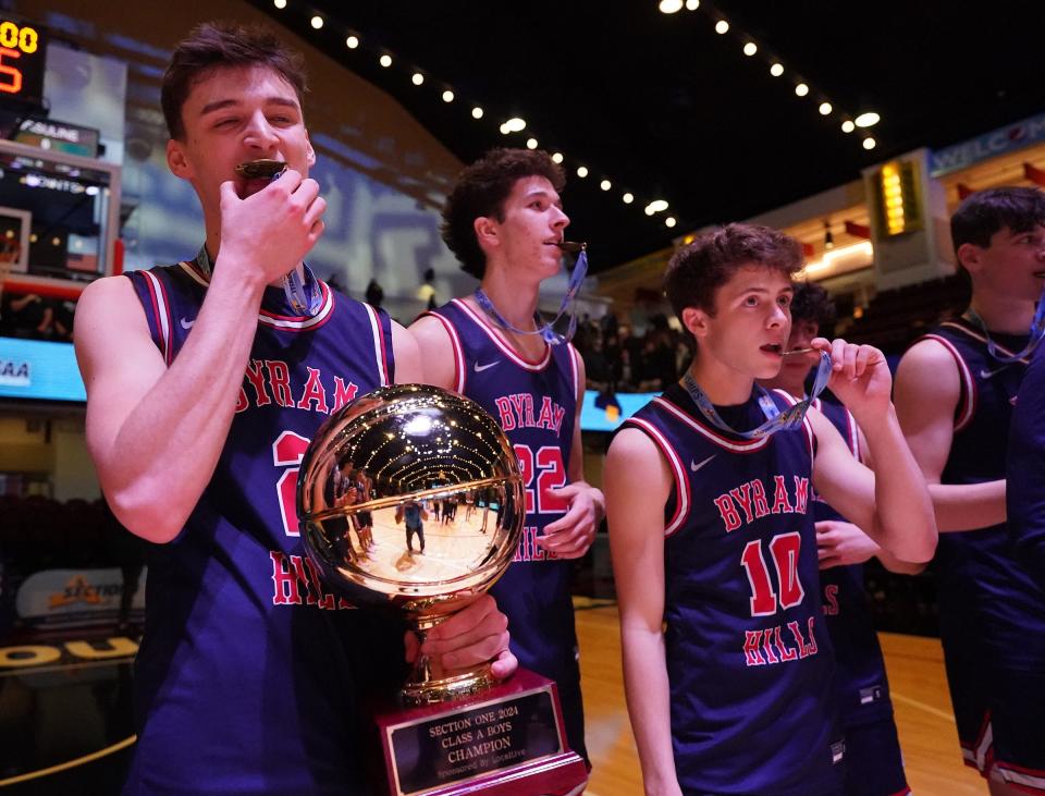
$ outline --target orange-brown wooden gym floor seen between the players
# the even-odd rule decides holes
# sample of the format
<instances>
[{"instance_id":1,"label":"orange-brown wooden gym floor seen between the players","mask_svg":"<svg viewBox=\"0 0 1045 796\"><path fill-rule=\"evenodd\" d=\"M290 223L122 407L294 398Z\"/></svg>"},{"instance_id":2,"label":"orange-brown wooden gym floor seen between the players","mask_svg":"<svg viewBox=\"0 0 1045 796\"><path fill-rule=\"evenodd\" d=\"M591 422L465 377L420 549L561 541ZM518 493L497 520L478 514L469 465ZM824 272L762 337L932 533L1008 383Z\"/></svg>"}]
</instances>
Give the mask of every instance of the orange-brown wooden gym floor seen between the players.
<instances>
[{"instance_id":1,"label":"orange-brown wooden gym floor seen between the players","mask_svg":"<svg viewBox=\"0 0 1045 796\"><path fill-rule=\"evenodd\" d=\"M589 796L642 793L639 759L624 702L616 604L575 598L585 695ZM961 761L950 713L939 640L881 634L907 781L918 796L987 793L986 782Z\"/></svg>"}]
</instances>

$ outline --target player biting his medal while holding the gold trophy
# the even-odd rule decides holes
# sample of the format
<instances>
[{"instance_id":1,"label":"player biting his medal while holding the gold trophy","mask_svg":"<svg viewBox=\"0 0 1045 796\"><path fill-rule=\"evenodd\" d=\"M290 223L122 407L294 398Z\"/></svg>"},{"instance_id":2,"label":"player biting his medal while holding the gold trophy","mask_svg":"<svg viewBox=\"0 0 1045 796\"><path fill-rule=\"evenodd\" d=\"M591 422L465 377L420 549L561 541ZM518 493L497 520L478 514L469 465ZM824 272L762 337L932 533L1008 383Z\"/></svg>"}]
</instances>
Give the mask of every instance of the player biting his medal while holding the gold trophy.
<instances>
[{"instance_id":1,"label":"player biting his medal while holding the gold trophy","mask_svg":"<svg viewBox=\"0 0 1045 796\"><path fill-rule=\"evenodd\" d=\"M420 377L404 329L303 264L325 208L307 177L304 91L299 57L268 32L193 30L161 96L168 164L199 197L204 246L93 283L76 314L99 481L120 522L156 542L126 793L367 793L360 702L404 670L402 627L324 588L294 512L297 465L329 414ZM257 159L286 171L236 176ZM447 669L476 663L505 649L504 627L479 600L425 650ZM512 669L504 652L494 671Z\"/></svg>"}]
</instances>

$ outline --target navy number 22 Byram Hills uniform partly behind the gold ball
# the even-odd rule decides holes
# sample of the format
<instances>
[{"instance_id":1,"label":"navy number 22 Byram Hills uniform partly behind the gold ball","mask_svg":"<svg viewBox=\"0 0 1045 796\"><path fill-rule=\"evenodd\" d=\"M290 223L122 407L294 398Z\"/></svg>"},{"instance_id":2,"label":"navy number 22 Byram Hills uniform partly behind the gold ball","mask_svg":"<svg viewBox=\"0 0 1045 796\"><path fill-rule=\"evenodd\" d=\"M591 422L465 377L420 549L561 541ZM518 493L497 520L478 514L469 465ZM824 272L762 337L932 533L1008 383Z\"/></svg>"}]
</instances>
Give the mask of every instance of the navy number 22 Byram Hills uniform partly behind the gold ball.
<instances>
[{"instance_id":1,"label":"navy number 22 Byram Hills uniform partly behind the gold ball","mask_svg":"<svg viewBox=\"0 0 1045 796\"><path fill-rule=\"evenodd\" d=\"M544 527L568 507L546 490L568 481L579 355L569 344L545 345L539 362L528 362L460 299L431 315L453 343L455 389L497 419L522 470L526 526L514 561L491 593L508 617L519 664L558 684L569 746L587 757L570 599L573 562L553 558L537 543Z\"/></svg>"}]
</instances>

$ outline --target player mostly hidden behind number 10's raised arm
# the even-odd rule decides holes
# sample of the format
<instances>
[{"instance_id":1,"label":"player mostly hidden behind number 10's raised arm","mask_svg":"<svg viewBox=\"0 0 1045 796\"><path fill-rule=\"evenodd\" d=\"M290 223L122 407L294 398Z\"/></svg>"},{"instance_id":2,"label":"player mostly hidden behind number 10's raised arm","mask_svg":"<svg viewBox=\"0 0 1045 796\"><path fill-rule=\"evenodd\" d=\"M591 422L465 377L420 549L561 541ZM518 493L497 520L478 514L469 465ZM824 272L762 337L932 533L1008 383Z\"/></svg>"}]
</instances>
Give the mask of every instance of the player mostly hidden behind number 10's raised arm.
<instances>
[{"instance_id":1,"label":"player mostly hidden behind number 10's raised arm","mask_svg":"<svg viewBox=\"0 0 1045 796\"><path fill-rule=\"evenodd\" d=\"M808 348L835 323L831 295L815 282L796 282L791 298L788 351ZM759 380L801 400L814 365L810 356L788 356L773 379ZM813 406L841 434L852 456L873 467L866 441L852 414L833 401L816 399ZM889 683L878 636L871 623L863 585L863 563L872 556L890 572L914 574L922 564L908 564L884 551L871 537L846 522L813 495L820 587L824 620L835 648L835 703L846 736L846 796L899 796L909 793L900 744L893 720Z\"/></svg>"}]
</instances>

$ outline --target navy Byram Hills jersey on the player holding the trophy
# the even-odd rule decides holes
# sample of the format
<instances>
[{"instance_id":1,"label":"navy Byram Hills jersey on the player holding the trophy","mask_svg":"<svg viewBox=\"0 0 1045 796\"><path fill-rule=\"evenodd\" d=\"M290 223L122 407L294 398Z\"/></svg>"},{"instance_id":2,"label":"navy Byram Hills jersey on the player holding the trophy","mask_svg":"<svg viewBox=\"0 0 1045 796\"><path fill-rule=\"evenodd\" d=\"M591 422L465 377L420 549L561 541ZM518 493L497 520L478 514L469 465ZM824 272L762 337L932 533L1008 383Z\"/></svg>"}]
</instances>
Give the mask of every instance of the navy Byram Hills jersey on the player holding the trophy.
<instances>
[{"instance_id":1,"label":"navy Byram Hills jersey on the player holding the trophy","mask_svg":"<svg viewBox=\"0 0 1045 796\"><path fill-rule=\"evenodd\" d=\"M182 262L127 277L170 365L194 333L207 275ZM392 335L384 314L318 287L311 318L266 289L213 477L180 535L150 550L128 793L365 787L356 684L374 681L359 668L388 650L381 665L401 671L402 627L349 610L320 581L295 492L320 424L391 382Z\"/></svg>"}]
</instances>

